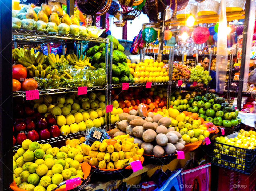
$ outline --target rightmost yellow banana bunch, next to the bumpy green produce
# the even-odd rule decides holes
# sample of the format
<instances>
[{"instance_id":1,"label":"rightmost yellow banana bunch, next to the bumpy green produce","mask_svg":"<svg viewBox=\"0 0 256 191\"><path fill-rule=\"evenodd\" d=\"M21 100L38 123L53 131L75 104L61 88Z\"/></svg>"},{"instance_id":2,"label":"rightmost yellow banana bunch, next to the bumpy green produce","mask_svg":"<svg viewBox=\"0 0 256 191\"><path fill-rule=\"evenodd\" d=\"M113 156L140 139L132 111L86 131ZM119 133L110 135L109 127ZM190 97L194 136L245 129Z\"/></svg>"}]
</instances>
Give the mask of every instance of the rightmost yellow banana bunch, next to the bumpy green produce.
<instances>
[{"instance_id":1,"label":"rightmost yellow banana bunch, next to the bumpy green produce","mask_svg":"<svg viewBox=\"0 0 256 191\"><path fill-rule=\"evenodd\" d=\"M89 63L89 57L87 57L87 56L85 56L83 58L83 55L81 55L78 59L77 55L68 54L68 55L66 55L66 59L69 61L69 64L73 65L74 68L76 68L76 69L80 69L85 66L89 66L89 67L95 69L95 67L91 66L91 63Z\"/></svg>"}]
</instances>

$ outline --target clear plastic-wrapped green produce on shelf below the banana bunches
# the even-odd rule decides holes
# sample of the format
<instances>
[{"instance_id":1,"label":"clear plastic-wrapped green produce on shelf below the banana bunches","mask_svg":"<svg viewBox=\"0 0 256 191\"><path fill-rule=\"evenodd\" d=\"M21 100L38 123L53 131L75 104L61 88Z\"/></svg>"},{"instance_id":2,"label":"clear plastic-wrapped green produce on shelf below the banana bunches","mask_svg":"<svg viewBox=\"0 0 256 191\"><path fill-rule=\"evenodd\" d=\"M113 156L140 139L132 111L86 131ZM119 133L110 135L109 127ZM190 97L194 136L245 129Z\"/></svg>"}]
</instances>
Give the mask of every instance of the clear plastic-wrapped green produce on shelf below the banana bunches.
<instances>
[{"instance_id":1,"label":"clear plastic-wrapped green produce on shelf below the banana bunches","mask_svg":"<svg viewBox=\"0 0 256 191\"><path fill-rule=\"evenodd\" d=\"M75 69L66 64L61 66L58 74L52 78L34 77L41 89L73 88L79 86L103 86L106 73L103 68L93 70L90 67Z\"/></svg>"}]
</instances>

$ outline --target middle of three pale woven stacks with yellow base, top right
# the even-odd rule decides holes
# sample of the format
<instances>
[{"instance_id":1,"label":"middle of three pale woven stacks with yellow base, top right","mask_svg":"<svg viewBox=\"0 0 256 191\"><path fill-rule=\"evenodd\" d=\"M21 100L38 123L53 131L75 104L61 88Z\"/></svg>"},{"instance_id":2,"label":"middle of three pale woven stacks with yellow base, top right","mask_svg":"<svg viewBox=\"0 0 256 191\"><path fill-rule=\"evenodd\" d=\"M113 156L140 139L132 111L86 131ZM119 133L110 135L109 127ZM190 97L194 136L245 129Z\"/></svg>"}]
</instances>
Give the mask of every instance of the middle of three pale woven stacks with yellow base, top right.
<instances>
[{"instance_id":1,"label":"middle of three pale woven stacks with yellow base, top right","mask_svg":"<svg viewBox=\"0 0 256 191\"><path fill-rule=\"evenodd\" d=\"M197 15L214 15L219 12L219 2L214 0L205 0L197 4Z\"/></svg>"}]
</instances>

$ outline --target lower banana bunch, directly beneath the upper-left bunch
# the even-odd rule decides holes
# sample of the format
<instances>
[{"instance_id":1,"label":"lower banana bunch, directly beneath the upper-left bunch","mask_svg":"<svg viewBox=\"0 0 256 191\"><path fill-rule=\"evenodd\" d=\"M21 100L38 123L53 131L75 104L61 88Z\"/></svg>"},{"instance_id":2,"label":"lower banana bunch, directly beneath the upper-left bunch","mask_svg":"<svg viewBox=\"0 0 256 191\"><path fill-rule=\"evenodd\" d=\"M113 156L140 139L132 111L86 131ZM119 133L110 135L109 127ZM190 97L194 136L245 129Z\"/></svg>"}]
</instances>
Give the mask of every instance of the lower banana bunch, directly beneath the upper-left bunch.
<instances>
[{"instance_id":1,"label":"lower banana bunch, directly beneath the upper-left bunch","mask_svg":"<svg viewBox=\"0 0 256 191\"><path fill-rule=\"evenodd\" d=\"M38 66L31 64L30 66L27 66L27 71L32 78L41 77L47 79L50 79L53 75L58 73L57 69L53 68L52 70L51 65L47 64L38 64Z\"/></svg>"}]
</instances>

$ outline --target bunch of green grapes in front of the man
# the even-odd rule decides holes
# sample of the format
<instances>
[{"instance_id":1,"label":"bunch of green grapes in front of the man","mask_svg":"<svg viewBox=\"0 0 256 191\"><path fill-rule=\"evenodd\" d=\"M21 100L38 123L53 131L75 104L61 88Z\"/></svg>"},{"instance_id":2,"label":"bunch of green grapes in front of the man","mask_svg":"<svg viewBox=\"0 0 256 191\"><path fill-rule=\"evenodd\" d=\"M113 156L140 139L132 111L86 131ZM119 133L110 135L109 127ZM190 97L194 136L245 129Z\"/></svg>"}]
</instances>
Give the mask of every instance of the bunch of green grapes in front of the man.
<instances>
[{"instance_id":1,"label":"bunch of green grapes in front of the man","mask_svg":"<svg viewBox=\"0 0 256 191\"><path fill-rule=\"evenodd\" d=\"M207 85L212 78L207 70L204 70L202 66L197 65L195 68L191 69L190 80L202 82Z\"/></svg>"}]
</instances>

